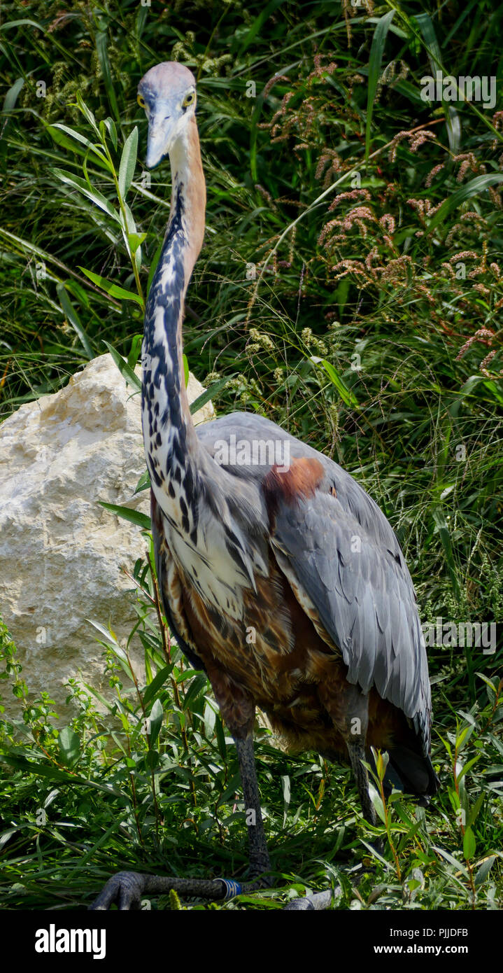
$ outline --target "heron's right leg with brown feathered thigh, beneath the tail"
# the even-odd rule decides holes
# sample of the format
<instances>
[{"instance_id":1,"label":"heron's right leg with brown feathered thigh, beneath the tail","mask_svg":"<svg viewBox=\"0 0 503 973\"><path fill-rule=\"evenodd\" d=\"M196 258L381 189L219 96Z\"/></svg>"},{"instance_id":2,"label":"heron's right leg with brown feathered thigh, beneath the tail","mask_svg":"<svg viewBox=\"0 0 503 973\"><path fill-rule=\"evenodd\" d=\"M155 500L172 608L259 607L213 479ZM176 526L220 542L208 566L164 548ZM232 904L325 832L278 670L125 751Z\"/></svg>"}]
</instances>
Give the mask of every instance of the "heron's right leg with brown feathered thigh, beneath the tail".
<instances>
[{"instance_id":1,"label":"heron's right leg with brown feathered thigh, beneath the tail","mask_svg":"<svg viewBox=\"0 0 503 973\"><path fill-rule=\"evenodd\" d=\"M369 698L346 679L318 686L318 696L344 739L364 816L376 824L376 811L369 793L365 740L369 726Z\"/></svg>"}]
</instances>

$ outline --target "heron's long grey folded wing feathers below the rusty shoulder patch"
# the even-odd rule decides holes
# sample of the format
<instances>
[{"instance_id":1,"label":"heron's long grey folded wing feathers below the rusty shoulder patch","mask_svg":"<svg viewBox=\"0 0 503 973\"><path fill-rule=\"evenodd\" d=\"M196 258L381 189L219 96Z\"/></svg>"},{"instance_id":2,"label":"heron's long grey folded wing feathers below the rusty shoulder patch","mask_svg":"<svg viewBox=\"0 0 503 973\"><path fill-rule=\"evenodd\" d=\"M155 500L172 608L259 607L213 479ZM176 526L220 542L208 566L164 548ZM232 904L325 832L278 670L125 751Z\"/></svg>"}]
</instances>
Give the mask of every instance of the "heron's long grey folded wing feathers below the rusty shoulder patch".
<instances>
[{"instance_id":1,"label":"heron's long grey folded wing feathers below the rusty shoulder patch","mask_svg":"<svg viewBox=\"0 0 503 973\"><path fill-rule=\"evenodd\" d=\"M352 507L344 509L339 489L337 498L316 492L295 506L285 503L274 539L339 645L349 682L365 693L375 686L402 709L427 752L430 685L411 576L403 559L399 564L382 548L380 530L376 537Z\"/></svg>"}]
</instances>

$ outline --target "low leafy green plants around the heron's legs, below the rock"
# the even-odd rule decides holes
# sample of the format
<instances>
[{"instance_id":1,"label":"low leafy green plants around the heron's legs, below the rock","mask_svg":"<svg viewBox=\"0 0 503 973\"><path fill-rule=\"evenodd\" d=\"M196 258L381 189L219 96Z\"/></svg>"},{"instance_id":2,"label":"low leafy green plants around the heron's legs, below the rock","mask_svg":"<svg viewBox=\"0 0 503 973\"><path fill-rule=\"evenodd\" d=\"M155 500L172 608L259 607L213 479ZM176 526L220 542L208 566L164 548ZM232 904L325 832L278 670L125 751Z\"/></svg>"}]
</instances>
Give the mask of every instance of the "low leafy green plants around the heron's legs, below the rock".
<instances>
[{"instance_id":1,"label":"low leafy green plants around the heron's legs, below the rock","mask_svg":"<svg viewBox=\"0 0 503 973\"><path fill-rule=\"evenodd\" d=\"M246 867L233 741L205 676L186 666L165 625L159 629L156 586L145 562L137 561L133 581L138 622L126 647L93 623L112 702L70 679L67 703L76 715L62 729L46 694L28 702L16 648L0 626L0 678L21 701L22 715L22 721L0 720L3 908L57 902L78 909L121 868L208 877ZM143 684L130 661L133 638L144 648ZM386 799L387 754L375 753L374 828L361 818L348 770L317 755L284 754L257 724L277 888L189 908L278 908L293 894L327 884L335 888L338 909L498 908L503 683L485 680L485 687L485 702L465 713L437 748L444 788L426 812L414 811L395 791ZM381 852L379 838L386 839ZM170 896L152 907L179 904Z\"/></svg>"}]
</instances>

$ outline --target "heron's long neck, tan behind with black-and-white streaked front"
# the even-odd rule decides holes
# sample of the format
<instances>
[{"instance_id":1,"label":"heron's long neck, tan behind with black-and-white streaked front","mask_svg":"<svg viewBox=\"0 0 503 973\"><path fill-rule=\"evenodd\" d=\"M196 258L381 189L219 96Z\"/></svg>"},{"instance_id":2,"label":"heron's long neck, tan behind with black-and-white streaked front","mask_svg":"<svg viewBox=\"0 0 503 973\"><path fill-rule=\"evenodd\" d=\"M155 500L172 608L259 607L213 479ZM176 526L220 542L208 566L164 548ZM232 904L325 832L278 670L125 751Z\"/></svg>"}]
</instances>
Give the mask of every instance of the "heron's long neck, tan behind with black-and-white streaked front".
<instances>
[{"instance_id":1,"label":"heron's long neck, tan behind with black-and-white streaked front","mask_svg":"<svg viewBox=\"0 0 503 973\"><path fill-rule=\"evenodd\" d=\"M171 497L198 455L185 388L182 319L185 293L202 245L206 191L196 121L188 127L169 157L171 209L147 302L142 355L147 465L156 495L165 491Z\"/></svg>"}]
</instances>

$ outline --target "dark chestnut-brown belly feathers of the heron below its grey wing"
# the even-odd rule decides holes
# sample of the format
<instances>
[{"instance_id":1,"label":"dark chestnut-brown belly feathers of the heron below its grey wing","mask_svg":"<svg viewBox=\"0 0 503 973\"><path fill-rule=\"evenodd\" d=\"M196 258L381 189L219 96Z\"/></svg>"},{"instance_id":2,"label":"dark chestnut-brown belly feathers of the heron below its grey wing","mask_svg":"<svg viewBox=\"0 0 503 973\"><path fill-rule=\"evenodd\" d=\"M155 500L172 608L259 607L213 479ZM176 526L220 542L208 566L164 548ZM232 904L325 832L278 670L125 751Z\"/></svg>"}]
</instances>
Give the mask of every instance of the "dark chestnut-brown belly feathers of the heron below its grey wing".
<instances>
[{"instance_id":1,"label":"dark chestnut-brown belly feathers of the heron below its grey wing","mask_svg":"<svg viewBox=\"0 0 503 973\"><path fill-rule=\"evenodd\" d=\"M330 686L343 707L349 686L337 646L320 637L320 625L314 627L272 557L269 576L257 579L257 594L248 590L243 597L243 619L236 622L179 576L177 614L182 609L224 718L230 722L232 714L234 725L244 726L251 699L291 749L345 754L344 739L318 693L318 687ZM403 714L372 690L368 745L384 748L406 730Z\"/></svg>"}]
</instances>

